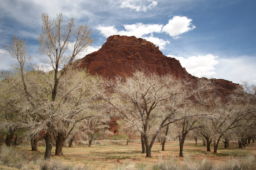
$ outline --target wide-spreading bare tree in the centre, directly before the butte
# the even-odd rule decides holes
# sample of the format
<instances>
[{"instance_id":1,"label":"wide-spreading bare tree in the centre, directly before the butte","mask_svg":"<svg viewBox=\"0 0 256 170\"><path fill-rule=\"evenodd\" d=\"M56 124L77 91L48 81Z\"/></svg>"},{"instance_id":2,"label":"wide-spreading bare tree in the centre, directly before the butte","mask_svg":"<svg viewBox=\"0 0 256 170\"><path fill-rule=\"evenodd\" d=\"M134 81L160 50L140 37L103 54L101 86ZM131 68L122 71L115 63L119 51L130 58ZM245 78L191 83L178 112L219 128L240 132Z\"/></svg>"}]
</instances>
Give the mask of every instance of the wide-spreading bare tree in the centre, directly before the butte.
<instances>
[{"instance_id":1,"label":"wide-spreading bare tree in the centre, directly before the butte","mask_svg":"<svg viewBox=\"0 0 256 170\"><path fill-rule=\"evenodd\" d=\"M151 157L154 141L164 127L187 117L175 117L176 111L185 103L192 103L192 96L208 86L207 83L204 87L195 85L194 90L189 90L188 93L190 82L174 78L172 75L160 76L146 71L137 71L125 80L117 77L104 83L112 92L108 95L106 92L98 92L108 103L105 109L123 117L142 133L146 157ZM149 136L152 136L150 143Z\"/></svg>"}]
</instances>

